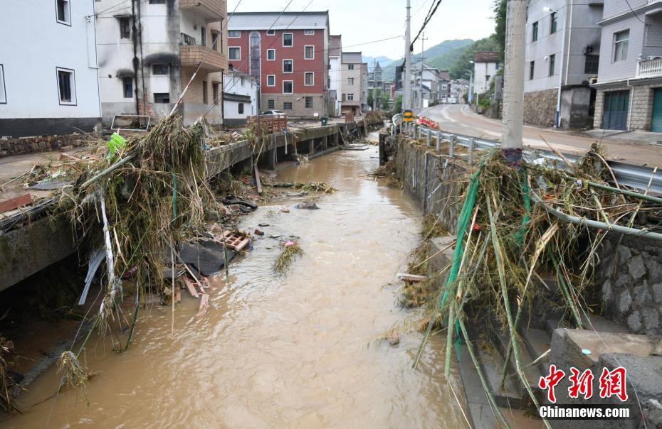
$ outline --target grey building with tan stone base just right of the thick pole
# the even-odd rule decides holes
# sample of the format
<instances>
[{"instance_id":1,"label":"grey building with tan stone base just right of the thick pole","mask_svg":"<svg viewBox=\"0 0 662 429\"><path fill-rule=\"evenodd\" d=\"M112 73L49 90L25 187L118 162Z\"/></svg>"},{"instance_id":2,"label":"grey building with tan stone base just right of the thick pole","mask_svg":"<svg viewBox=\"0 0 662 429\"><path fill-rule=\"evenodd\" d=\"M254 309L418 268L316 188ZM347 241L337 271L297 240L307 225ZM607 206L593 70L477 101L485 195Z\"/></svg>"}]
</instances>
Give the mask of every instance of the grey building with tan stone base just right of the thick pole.
<instances>
[{"instance_id":1,"label":"grey building with tan stone base just right of the thick pole","mask_svg":"<svg viewBox=\"0 0 662 429\"><path fill-rule=\"evenodd\" d=\"M600 55L602 1L530 0L527 12L524 121L560 126L592 124ZM564 44L563 44L564 43Z\"/></svg>"}]
</instances>

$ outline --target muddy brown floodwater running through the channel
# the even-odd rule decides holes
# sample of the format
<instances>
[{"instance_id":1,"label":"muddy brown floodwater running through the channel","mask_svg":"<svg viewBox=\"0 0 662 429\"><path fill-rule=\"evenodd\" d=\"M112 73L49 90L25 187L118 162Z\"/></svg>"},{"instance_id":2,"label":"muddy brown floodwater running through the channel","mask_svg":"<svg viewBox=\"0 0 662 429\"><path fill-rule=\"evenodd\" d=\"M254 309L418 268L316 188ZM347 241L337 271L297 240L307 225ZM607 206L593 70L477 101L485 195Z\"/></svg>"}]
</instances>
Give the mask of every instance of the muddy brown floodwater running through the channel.
<instances>
[{"instance_id":1,"label":"muddy brown floodwater running through the channel","mask_svg":"<svg viewBox=\"0 0 662 429\"><path fill-rule=\"evenodd\" d=\"M421 213L367 175L377 163L371 146L281 171L279 181L325 181L339 192L320 197L320 210L287 197L243 217L242 229L265 236L231 263L229 284L212 281L203 317L184 291L174 332L171 308L150 307L127 352L107 338L88 344L85 361L100 371L88 403L70 389L54 400L51 368L19 397L26 413L0 428L466 427L443 377L443 335L416 370L419 334L402 332L396 346L380 340L419 314L397 305L396 273L419 244ZM279 276L278 240L289 236L305 254ZM456 379L453 369L462 397Z\"/></svg>"}]
</instances>

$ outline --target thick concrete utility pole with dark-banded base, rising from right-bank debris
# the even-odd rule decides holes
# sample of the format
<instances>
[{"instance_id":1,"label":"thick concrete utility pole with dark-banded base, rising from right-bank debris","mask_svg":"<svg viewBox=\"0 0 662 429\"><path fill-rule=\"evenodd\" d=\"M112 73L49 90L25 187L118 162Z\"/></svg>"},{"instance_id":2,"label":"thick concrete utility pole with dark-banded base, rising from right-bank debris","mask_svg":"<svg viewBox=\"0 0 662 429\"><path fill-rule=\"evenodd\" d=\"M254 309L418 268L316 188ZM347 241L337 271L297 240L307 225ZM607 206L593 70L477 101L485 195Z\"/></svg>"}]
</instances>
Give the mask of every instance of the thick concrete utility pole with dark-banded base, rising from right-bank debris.
<instances>
[{"instance_id":1,"label":"thick concrete utility pole with dark-banded base, rising from right-bank debris","mask_svg":"<svg viewBox=\"0 0 662 429\"><path fill-rule=\"evenodd\" d=\"M501 154L506 163L522 163L524 58L527 0L508 0L505 30Z\"/></svg>"}]
</instances>

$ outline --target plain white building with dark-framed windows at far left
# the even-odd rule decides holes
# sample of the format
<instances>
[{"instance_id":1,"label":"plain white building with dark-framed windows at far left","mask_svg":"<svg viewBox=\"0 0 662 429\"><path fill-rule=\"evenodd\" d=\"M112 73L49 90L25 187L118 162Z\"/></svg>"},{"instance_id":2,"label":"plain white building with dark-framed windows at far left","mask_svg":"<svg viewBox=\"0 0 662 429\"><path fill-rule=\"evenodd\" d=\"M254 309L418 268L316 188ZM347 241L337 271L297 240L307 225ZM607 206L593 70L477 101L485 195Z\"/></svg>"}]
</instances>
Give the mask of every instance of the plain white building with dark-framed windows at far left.
<instances>
[{"instance_id":1,"label":"plain white building with dark-framed windows at far left","mask_svg":"<svg viewBox=\"0 0 662 429\"><path fill-rule=\"evenodd\" d=\"M29 28L35 37L21 37ZM92 1L6 2L0 136L92 131L101 121Z\"/></svg>"}]
</instances>

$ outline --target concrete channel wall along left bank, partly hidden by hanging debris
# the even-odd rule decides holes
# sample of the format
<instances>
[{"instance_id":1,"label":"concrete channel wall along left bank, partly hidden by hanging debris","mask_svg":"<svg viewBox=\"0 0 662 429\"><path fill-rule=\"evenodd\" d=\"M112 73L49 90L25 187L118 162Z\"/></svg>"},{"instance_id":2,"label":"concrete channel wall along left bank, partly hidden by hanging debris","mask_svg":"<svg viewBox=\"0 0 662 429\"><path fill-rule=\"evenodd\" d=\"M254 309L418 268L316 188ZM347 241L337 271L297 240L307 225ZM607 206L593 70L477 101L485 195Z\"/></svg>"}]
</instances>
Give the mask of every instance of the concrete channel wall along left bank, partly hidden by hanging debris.
<instances>
[{"instance_id":1,"label":"concrete channel wall along left bank, partly hidden by hanging debris","mask_svg":"<svg viewBox=\"0 0 662 429\"><path fill-rule=\"evenodd\" d=\"M378 118L347 124L317 126L279 132L267 137L264 143L252 144L238 141L225 146L211 148L206 153L207 177L211 178L230 168L250 166L253 157L263 168L273 169L284 161L285 153L291 154L296 142L297 152L306 156L318 155L338 148L355 129L354 136L363 135L365 127L381 124ZM342 136L341 136L342 134ZM289 150L288 150L289 149ZM78 248L74 229L68 219L44 218L28 221L22 227L0 235L0 291L28 278L73 254Z\"/></svg>"}]
</instances>

